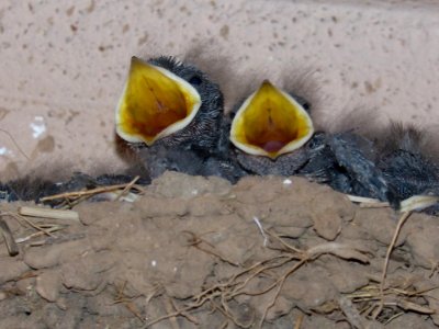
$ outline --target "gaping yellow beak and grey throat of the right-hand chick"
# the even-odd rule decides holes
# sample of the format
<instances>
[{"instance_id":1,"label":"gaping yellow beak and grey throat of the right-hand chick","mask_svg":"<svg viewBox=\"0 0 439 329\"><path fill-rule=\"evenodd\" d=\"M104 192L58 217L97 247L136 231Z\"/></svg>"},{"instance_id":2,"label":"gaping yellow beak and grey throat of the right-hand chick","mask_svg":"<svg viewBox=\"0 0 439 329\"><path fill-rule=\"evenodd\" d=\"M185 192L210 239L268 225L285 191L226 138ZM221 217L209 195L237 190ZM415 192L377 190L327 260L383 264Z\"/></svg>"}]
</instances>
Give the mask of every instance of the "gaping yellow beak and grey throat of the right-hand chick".
<instances>
[{"instance_id":1,"label":"gaping yellow beak and grey throat of the right-hand chick","mask_svg":"<svg viewBox=\"0 0 439 329\"><path fill-rule=\"evenodd\" d=\"M237 110L229 138L248 172L291 175L308 159L303 146L313 135L303 104L266 80Z\"/></svg>"}]
</instances>

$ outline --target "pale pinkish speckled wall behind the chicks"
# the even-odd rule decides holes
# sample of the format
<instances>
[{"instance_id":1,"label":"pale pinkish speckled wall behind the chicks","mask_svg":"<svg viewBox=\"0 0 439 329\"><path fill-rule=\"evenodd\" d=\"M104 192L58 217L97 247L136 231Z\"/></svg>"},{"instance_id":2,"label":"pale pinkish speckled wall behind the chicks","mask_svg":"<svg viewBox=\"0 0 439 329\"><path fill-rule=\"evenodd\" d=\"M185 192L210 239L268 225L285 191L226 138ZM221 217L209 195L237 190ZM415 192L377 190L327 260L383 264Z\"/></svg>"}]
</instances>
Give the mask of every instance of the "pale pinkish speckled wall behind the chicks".
<instances>
[{"instance_id":1,"label":"pale pinkish speckled wall behind the chicks","mask_svg":"<svg viewBox=\"0 0 439 329\"><path fill-rule=\"evenodd\" d=\"M46 163L124 166L113 125L131 56L184 56L200 43L240 75L226 89L306 68L335 117L361 107L435 129L439 4L333 2L1 1L2 178Z\"/></svg>"}]
</instances>

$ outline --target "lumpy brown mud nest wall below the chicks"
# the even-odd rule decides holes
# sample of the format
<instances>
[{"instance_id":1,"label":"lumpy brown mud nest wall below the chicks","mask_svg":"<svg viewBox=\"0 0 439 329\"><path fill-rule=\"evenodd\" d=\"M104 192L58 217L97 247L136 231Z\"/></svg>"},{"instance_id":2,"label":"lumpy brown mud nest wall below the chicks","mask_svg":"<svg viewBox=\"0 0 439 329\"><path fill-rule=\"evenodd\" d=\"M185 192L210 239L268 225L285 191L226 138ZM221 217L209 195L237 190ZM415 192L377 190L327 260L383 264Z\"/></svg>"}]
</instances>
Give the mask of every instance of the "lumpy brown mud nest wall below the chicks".
<instances>
[{"instance_id":1,"label":"lumpy brown mud nest wall below the chicks","mask_svg":"<svg viewBox=\"0 0 439 329\"><path fill-rule=\"evenodd\" d=\"M151 327L439 326L436 217L403 226L378 311L399 214L327 186L166 173L134 203L74 209L80 223L19 243L16 257L0 242L0 328L143 328L169 314ZM35 232L2 218L15 238Z\"/></svg>"}]
</instances>

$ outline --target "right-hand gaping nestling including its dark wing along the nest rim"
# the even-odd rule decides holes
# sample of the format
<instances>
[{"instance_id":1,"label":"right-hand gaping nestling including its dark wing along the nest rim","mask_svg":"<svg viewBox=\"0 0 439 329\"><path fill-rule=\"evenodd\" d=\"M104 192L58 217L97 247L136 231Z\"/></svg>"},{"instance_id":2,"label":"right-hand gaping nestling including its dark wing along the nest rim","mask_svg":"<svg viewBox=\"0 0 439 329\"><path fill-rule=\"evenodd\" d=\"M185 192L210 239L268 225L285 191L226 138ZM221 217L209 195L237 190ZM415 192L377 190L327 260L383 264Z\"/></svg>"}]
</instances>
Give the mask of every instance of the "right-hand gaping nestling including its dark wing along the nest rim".
<instances>
[{"instance_id":1,"label":"right-hand gaping nestling including its dark wing along the nest rim","mask_svg":"<svg viewBox=\"0 0 439 329\"><path fill-rule=\"evenodd\" d=\"M378 167L375 145L350 132L315 133L297 100L307 104L268 81L246 99L230 128L237 162L249 173L305 175L398 207L401 195Z\"/></svg>"}]
</instances>

